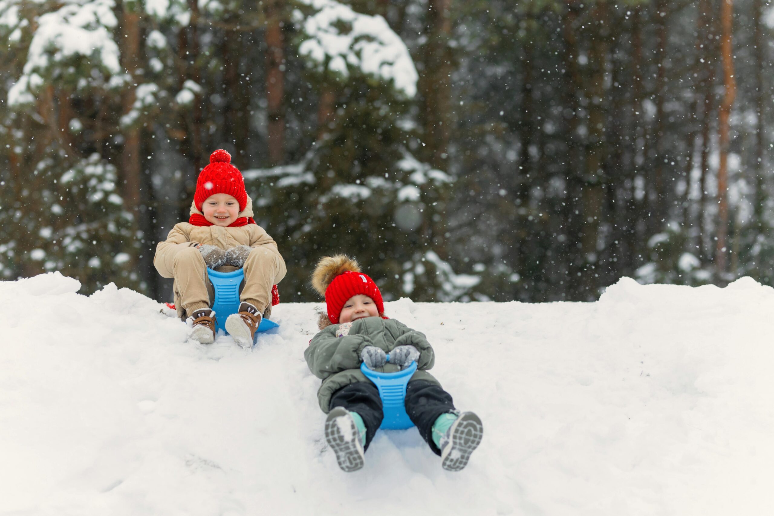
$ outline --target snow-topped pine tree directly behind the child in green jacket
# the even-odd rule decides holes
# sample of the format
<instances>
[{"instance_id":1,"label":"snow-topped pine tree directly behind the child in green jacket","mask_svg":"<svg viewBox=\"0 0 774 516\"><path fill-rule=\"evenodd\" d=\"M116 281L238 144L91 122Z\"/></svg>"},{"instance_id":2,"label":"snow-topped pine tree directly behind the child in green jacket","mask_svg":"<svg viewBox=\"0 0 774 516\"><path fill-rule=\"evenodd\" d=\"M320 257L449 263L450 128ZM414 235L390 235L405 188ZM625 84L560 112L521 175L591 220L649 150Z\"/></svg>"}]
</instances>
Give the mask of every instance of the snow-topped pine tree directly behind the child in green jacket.
<instances>
[{"instance_id":1,"label":"snow-topped pine tree directly behind the child in green jacket","mask_svg":"<svg viewBox=\"0 0 774 516\"><path fill-rule=\"evenodd\" d=\"M309 4L319 15L304 20L299 50L308 80L327 85L321 137L294 166L245 173L259 192L258 216L286 242L283 289L314 299L308 271L321 256L345 252L379 279L387 299L466 296L478 280L462 285L434 250L454 181L411 150L420 144L407 130L416 71L406 46L381 17L338 2ZM333 37L336 50L326 46Z\"/></svg>"}]
</instances>

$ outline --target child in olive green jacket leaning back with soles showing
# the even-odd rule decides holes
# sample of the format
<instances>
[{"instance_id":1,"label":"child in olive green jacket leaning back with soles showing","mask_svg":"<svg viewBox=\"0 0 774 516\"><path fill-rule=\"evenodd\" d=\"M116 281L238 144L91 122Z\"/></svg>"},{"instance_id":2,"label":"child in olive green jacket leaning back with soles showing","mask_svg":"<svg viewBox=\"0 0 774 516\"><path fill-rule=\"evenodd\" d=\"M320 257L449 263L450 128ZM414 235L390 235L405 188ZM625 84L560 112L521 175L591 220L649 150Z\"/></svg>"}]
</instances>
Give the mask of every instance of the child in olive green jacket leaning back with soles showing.
<instances>
[{"instance_id":1,"label":"child in olive green jacket leaning back with soles showing","mask_svg":"<svg viewBox=\"0 0 774 516\"><path fill-rule=\"evenodd\" d=\"M378 388L360 371L396 372L416 361L406 387L406 413L446 470L467 465L481 443L484 427L473 412L459 412L451 395L426 370L433 348L423 333L384 315L382 293L357 261L345 255L320 260L312 285L325 297L320 332L304 352L312 373L322 378L317 393L327 412L325 439L344 471L359 470L365 450L382 424ZM386 355L389 354L389 362Z\"/></svg>"}]
</instances>

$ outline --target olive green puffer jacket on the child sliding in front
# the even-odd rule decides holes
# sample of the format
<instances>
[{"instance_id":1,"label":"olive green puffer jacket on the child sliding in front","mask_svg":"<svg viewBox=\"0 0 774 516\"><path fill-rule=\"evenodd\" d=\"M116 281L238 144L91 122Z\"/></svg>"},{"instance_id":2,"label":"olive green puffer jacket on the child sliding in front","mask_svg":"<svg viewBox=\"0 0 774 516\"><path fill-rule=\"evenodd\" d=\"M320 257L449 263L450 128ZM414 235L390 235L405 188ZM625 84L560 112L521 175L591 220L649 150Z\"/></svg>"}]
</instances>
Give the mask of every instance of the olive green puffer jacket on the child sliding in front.
<instances>
[{"instance_id":1,"label":"olive green puffer jacket on the child sliding in front","mask_svg":"<svg viewBox=\"0 0 774 516\"><path fill-rule=\"evenodd\" d=\"M426 380L440 385L426 371L433 367L435 354L424 333L412 330L397 320L365 317L353 323L332 324L317 333L303 356L307 359L310 371L323 380L317 391L317 400L323 412L330 411L330 397L335 391L358 381L370 381L360 371L360 354L364 347L381 347L385 353L389 353L395 347L406 345L416 347L420 352L416 373L411 381ZM399 371L399 367L387 363L375 371L394 373Z\"/></svg>"}]
</instances>

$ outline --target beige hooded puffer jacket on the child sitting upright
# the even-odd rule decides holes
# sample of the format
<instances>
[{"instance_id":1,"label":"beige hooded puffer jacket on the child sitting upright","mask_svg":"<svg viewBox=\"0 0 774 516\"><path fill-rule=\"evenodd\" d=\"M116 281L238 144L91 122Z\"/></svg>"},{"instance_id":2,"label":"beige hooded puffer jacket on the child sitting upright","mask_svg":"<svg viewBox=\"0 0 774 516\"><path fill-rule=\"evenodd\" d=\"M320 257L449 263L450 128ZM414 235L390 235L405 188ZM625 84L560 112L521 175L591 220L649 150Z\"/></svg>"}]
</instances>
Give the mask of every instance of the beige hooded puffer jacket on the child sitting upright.
<instances>
[{"instance_id":1,"label":"beige hooded puffer jacket on the child sitting upright","mask_svg":"<svg viewBox=\"0 0 774 516\"><path fill-rule=\"evenodd\" d=\"M190 214L201 214L194 203L191 203ZM252 217L252 199L247 197L245 209L241 210L238 217ZM277 275L275 281L279 283L287 272L285 260L279 254L277 243L258 224L247 224L239 227L220 226L194 226L188 222L175 224L166 240L156 245L156 256L153 257L153 265L164 278L173 278L173 263L180 250L190 248L196 244L214 245L221 249L234 248L238 245L247 245L252 248L264 248L276 261ZM227 266L228 267L228 266ZM233 269L233 268L232 268ZM175 299L176 306L180 307L180 299ZM180 310L179 310L180 311Z\"/></svg>"}]
</instances>

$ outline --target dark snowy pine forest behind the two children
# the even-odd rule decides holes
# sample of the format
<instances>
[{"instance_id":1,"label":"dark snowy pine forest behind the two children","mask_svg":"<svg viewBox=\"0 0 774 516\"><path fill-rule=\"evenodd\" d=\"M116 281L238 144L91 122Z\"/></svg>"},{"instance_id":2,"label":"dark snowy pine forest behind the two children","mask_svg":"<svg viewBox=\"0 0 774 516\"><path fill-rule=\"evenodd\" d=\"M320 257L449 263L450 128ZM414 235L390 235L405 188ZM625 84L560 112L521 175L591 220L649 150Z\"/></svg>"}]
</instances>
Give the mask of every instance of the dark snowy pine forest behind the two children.
<instances>
[{"instance_id":1,"label":"dark snowy pine forest behind the two children","mask_svg":"<svg viewBox=\"0 0 774 516\"><path fill-rule=\"evenodd\" d=\"M772 285L769 22L762 0L0 0L0 277L170 299L156 242L223 148L284 301L339 251L388 299Z\"/></svg>"}]
</instances>

